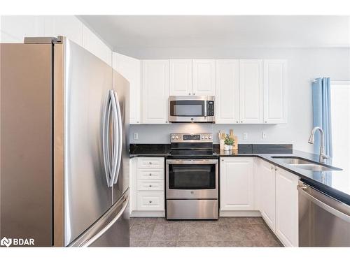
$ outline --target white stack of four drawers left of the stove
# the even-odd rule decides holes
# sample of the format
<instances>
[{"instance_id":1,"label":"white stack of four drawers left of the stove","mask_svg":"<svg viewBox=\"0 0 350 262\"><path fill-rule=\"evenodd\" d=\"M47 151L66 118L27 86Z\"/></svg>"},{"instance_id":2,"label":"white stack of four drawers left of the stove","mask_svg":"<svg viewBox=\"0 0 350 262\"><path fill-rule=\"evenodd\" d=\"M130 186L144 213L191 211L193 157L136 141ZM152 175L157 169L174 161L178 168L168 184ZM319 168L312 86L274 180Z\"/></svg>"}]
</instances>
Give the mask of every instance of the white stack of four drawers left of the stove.
<instances>
[{"instance_id":1,"label":"white stack of four drawers left of the stove","mask_svg":"<svg viewBox=\"0 0 350 262\"><path fill-rule=\"evenodd\" d=\"M164 157L137 158L136 175L132 176L136 187L135 211L165 211L164 165Z\"/></svg>"}]
</instances>

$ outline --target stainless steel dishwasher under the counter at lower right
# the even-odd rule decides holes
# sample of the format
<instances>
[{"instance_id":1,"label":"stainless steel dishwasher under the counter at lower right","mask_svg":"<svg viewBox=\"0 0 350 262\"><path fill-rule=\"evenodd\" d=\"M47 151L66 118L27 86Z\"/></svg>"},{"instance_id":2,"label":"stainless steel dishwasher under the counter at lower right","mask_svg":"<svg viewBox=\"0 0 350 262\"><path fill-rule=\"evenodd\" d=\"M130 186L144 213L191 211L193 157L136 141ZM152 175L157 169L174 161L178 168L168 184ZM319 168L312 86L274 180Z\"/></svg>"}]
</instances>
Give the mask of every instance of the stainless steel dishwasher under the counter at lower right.
<instances>
[{"instance_id":1,"label":"stainless steel dishwasher under the counter at lower right","mask_svg":"<svg viewBox=\"0 0 350 262\"><path fill-rule=\"evenodd\" d=\"M350 206L299 182L299 246L350 247Z\"/></svg>"}]
</instances>

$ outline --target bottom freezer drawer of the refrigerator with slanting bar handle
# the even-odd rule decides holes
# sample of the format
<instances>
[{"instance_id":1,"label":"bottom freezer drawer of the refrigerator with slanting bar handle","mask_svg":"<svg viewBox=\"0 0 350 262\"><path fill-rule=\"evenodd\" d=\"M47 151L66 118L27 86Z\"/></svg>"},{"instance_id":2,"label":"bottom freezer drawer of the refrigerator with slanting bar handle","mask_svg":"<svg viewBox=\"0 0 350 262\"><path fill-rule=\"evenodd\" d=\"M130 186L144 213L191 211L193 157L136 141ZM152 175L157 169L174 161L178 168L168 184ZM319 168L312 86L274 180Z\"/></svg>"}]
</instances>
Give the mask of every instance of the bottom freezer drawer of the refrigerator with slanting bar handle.
<instances>
[{"instance_id":1,"label":"bottom freezer drawer of the refrigerator with slanting bar handle","mask_svg":"<svg viewBox=\"0 0 350 262\"><path fill-rule=\"evenodd\" d=\"M129 247L129 190L69 247Z\"/></svg>"}]
</instances>

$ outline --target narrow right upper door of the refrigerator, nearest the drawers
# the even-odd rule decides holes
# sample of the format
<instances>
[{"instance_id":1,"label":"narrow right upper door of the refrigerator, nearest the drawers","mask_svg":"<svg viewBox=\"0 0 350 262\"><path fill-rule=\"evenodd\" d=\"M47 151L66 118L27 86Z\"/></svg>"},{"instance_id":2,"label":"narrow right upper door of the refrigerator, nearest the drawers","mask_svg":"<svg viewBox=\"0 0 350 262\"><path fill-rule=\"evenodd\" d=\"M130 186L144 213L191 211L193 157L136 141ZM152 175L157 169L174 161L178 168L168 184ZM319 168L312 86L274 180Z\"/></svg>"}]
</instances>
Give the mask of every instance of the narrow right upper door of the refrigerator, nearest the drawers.
<instances>
[{"instance_id":1,"label":"narrow right upper door of the refrigerator, nearest the drawers","mask_svg":"<svg viewBox=\"0 0 350 262\"><path fill-rule=\"evenodd\" d=\"M113 71L113 91L118 106L117 122L120 126L118 138L118 167L113 184L113 203L129 188L129 82L120 73Z\"/></svg>"}]
</instances>

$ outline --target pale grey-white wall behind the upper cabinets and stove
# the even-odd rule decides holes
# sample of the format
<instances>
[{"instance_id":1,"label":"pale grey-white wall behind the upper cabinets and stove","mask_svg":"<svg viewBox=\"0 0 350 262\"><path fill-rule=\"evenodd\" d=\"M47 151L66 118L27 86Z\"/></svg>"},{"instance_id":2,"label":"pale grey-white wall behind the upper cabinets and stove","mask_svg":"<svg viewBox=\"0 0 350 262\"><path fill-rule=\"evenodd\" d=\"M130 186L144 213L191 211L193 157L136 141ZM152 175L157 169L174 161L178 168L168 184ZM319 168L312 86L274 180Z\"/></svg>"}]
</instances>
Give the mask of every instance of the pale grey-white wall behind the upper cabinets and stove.
<instances>
[{"instance_id":1,"label":"pale grey-white wall behind the upper cabinets and stove","mask_svg":"<svg viewBox=\"0 0 350 262\"><path fill-rule=\"evenodd\" d=\"M311 79L328 76L331 80L350 80L350 48L158 48L116 50L139 59L208 58L208 59L288 59L288 124L164 124L133 125L131 143L169 143L169 133L186 131L216 132L230 128L239 143L293 143L294 148L312 152L307 143L312 128ZM266 139L261 132L265 131ZM243 140L243 133L248 140ZM133 133L139 133L134 140Z\"/></svg>"}]
</instances>

